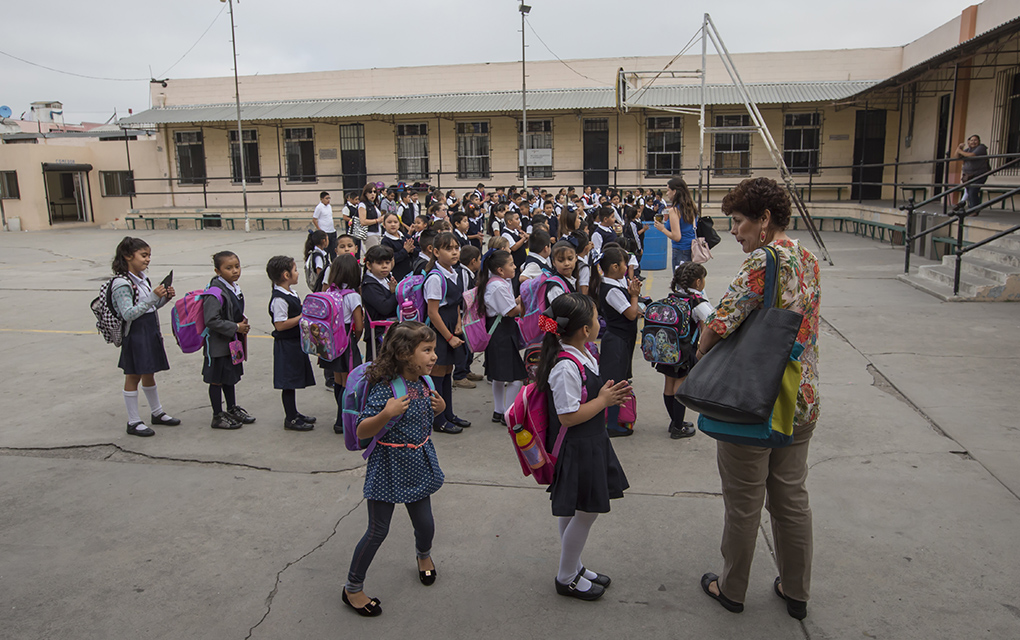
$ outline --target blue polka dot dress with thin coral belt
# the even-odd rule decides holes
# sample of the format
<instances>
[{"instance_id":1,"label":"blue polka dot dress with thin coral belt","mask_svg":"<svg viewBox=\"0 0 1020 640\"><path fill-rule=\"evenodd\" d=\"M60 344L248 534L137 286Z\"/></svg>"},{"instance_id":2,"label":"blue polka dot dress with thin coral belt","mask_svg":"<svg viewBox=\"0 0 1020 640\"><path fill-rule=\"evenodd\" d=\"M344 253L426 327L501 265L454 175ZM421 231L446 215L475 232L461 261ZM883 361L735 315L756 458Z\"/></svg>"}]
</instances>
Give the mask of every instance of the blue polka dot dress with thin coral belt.
<instances>
[{"instance_id":1,"label":"blue polka dot dress with thin coral belt","mask_svg":"<svg viewBox=\"0 0 1020 640\"><path fill-rule=\"evenodd\" d=\"M364 495L369 500L417 502L443 486L443 470L431 440L416 449L381 444L421 444L431 434L434 414L428 387L420 380L408 382L407 393L411 398L407 412L379 439L368 457ZM377 415L392 397L389 384L372 387L360 420Z\"/></svg>"}]
</instances>

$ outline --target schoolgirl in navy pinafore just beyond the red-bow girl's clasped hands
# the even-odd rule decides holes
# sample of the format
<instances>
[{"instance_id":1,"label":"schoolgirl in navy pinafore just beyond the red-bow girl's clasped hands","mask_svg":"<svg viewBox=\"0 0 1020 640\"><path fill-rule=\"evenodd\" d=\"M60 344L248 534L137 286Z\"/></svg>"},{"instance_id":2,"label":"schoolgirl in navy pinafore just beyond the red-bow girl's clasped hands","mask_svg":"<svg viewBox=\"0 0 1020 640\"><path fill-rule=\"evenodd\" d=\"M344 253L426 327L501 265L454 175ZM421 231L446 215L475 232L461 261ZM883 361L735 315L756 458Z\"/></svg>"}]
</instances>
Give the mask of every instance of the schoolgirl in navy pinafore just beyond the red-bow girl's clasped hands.
<instances>
[{"instance_id":1,"label":"schoolgirl in navy pinafore just beyond the red-bow girl's clasped hands","mask_svg":"<svg viewBox=\"0 0 1020 640\"><path fill-rule=\"evenodd\" d=\"M632 372L634 343L638 341L638 317L641 308L641 282L627 281L627 254L619 247L607 248L599 258L599 268L592 269L589 292L598 300L599 310L606 318L602 336L602 373L607 380L629 380ZM599 274L602 270L602 276ZM633 430L619 422L620 408L610 407L606 416L610 438L629 436Z\"/></svg>"}]
</instances>

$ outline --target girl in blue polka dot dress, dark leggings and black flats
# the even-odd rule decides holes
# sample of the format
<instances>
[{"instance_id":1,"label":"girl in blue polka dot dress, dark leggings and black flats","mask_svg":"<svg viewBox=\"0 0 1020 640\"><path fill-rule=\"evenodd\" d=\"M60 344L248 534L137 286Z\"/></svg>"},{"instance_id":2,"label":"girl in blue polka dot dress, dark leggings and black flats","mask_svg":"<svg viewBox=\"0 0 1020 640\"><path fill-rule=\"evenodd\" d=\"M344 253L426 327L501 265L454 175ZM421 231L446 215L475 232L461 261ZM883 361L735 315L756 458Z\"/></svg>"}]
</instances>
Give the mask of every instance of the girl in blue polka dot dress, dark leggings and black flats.
<instances>
[{"instance_id":1,"label":"girl in blue polka dot dress, dark leggings and black flats","mask_svg":"<svg viewBox=\"0 0 1020 640\"><path fill-rule=\"evenodd\" d=\"M368 530L354 549L344 588L344 603L361 616L382 612L379 601L364 594L365 574L386 539L394 505L403 503L414 527L418 579L436 582L431 559L431 494L443 486L443 470L429 440L432 419L446 402L423 380L436 364L436 334L421 323L394 325L386 334L378 356L366 373L368 398L358 422L358 438L371 440L386 425L398 420L379 438L368 457L364 496L368 503ZM404 379L407 395L395 398L390 381Z\"/></svg>"}]
</instances>

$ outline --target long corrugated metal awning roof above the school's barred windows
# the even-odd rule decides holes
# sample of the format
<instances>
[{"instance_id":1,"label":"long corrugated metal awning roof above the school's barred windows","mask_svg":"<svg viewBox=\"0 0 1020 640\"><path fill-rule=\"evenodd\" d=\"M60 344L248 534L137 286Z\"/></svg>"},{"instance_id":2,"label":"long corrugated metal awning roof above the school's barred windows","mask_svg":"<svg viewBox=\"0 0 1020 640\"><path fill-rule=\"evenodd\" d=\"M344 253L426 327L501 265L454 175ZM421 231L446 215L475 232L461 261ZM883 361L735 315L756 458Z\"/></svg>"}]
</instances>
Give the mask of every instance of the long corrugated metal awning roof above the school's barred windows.
<instances>
[{"instance_id":1,"label":"long corrugated metal awning roof above the school's barred windows","mask_svg":"<svg viewBox=\"0 0 1020 640\"><path fill-rule=\"evenodd\" d=\"M875 82L768 83L747 85L758 104L826 102L842 100L873 86ZM632 92L632 97L639 92ZM707 85L709 104L741 104L732 85ZM649 106L693 106L701 104L701 87L651 87L640 95ZM364 117L369 115L410 115L422 113L487 113L520 109L519 91L488 91L423 96L345 98L337 100L293 100L244 102L241 118L249 121L289 120L323 117ZM610 109L616 106L612 89L556 89L527 92L527 108L536 111L565 109ZM120 125L170 125L185 122L225 122L237 119L234 104L201 104L156 107L120 119Z\"/></svg>"}]
</instances>

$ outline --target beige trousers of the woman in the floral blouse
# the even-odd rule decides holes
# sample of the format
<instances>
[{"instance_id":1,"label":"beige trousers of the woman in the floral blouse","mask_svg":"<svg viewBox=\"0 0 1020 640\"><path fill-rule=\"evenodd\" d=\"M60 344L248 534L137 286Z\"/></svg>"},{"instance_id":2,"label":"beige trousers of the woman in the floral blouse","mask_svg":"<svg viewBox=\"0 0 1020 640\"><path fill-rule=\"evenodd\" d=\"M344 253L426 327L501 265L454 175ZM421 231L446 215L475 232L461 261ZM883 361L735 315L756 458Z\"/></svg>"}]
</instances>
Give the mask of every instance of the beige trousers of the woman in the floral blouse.
<instances>
[{"instance_id":1,"label":"beige trousers of the woman in the floral blouse","mask_svg":"<svg viewBox=\"0 0 1020 640\"><path fill-rule=\"evenodd\" d=\"M808 442L815 425L796 427L794 443L781 449L718 442L725 524L719 590L744 602L761 524L762 504L772 520L782 590L807 601L811 589L811 506L808 503Z\"/></svg>"}]
</instances>

